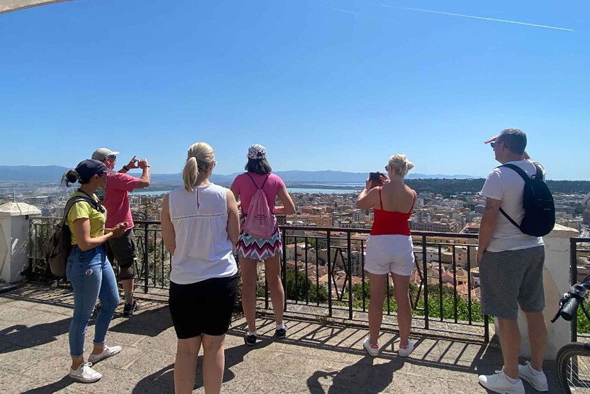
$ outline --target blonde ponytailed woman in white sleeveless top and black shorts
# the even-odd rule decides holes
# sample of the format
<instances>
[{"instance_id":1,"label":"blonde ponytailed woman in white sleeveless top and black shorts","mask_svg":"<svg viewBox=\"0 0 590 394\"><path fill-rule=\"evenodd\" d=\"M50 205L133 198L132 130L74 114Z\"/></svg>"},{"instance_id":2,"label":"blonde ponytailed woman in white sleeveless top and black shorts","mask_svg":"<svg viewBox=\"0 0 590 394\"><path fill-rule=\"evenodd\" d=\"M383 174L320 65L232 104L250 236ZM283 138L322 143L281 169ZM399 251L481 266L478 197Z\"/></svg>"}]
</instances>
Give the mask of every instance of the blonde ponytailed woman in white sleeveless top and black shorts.
<instances>
[{"instance_id":1,"label":"blonde ponytailed woman in white sleeveless top and black shorts","mask_svg":"<svg viewBox=\"0 0 590 394\"><path fill-rule=\"evenodd\" d=\"M225 334L238 291L233 245L240 222L233 192L210 183L215 153L198 142L188 149L184 188L164 198L162 238L172 255L170 314L178 338L174 390L191 393L196 358L203 344L203 384L219 393Z\"/></svg>"}]
</instances>

